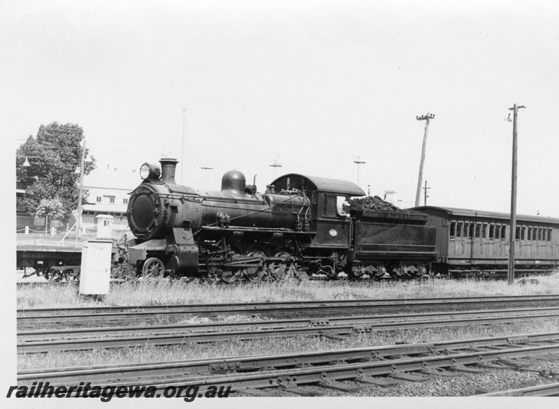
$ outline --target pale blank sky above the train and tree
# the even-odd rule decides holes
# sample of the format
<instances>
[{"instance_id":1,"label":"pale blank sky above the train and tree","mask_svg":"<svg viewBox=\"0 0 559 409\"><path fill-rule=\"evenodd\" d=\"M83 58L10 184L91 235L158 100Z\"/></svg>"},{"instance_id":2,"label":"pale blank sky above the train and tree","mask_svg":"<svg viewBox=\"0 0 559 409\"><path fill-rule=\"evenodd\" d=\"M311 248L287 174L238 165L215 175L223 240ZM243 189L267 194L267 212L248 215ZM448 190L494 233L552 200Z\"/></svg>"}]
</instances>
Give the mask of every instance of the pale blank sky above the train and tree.
<instances>
[{"instance_id":1,"label":"pale blank sky above the train and tree","mask_svg":"<svg viewBox=\"0 0 559 409\"><path fill-rule=\"evenodd\" d=\"M356 182L359 160L365 191L412 207L433 112L428 205L508 212L518 103L517 211L559 217L558 21L549 0L4 0L0 132L13 152L79 124L130 188L161 156L187 186L235 168L259 191L288 172Z\"/></svg>"}]
</instances>

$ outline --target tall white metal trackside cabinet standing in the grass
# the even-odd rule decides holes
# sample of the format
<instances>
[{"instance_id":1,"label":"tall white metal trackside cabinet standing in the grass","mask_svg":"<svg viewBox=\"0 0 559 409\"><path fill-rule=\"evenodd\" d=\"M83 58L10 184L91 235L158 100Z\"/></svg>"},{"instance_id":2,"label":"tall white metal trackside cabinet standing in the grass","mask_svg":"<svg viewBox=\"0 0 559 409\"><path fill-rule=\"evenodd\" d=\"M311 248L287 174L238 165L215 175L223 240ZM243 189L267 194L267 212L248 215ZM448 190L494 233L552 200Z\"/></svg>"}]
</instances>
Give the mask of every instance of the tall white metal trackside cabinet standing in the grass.
<instances>
[{"instance_id":1,"label":"tall white metal trackside cabinet standing in the grass","mask_svg":"<svg viewBox=\"0 0 559 409\"><path fill-rule=\"evenodd\" d=\"M89 240L83 245L80 294L108 294L111 250L112 240Z\"/></svg>"}]
</instances>

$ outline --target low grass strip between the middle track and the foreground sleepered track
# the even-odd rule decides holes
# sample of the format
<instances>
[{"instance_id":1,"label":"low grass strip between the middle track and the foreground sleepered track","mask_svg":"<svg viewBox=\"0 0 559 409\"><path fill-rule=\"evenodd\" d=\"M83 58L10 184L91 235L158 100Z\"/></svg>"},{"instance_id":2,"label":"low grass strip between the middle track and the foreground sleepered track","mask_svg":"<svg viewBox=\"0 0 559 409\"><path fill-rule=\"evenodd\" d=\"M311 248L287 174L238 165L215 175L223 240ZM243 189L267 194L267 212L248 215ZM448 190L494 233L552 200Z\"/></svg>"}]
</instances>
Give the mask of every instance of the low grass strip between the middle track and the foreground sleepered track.
<instances>
[{"instance_id":1,"label":"low grass strip between the middle track and the foreground sleepered track","mask_svg":"<svg viewBox=\"0 0 559 409\"><path fill-rule=\"evenodd\" d=\"M514 322L498 325L476 325L467 327L442 327L407 329L403 331L372 332L354 334L343 340L324 336L308 336L250 341L226 341L206 344L184 344L168 347L147 345L136 348L89 350L72 352L48 352L46 354L18 355L19 370L85 366L95 364L122 364L127 362L166 362L176 360L205 359L211 357L235 357L244 355L268 355L283 352L306 352L333 350L337 348L370 347L395 343L419 343L448 341L482 336L502 336L531 332L559 330L559 320L535 319L529 322Z\"/></svg>"}]
</instances>

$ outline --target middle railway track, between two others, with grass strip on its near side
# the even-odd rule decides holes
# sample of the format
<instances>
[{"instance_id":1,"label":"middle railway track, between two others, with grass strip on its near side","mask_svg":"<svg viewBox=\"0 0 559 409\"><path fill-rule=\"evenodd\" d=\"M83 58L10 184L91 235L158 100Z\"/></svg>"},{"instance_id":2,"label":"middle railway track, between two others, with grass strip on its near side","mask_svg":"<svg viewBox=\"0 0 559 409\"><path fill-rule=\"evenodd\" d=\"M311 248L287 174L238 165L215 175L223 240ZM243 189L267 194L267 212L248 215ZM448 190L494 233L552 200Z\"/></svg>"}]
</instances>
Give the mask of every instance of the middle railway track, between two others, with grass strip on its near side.
<instances>
[{"instance_id":1,"label":"middle railway track, between two others, with grass strip on its near side","mask_svg":"<svg viewBox=\"0 0 559 409\"><path fill-rule=\"evenodd\" d=\"M56 350L126 348L138 345L177 345L286 336L336 337L366 332L490 325L543 318L558 319L559 307L450 311L413 315L367 315L326 319L213 322L210 324L47 329L17 332L17 352L36 353Z\"/></svg>"}]
</instances>

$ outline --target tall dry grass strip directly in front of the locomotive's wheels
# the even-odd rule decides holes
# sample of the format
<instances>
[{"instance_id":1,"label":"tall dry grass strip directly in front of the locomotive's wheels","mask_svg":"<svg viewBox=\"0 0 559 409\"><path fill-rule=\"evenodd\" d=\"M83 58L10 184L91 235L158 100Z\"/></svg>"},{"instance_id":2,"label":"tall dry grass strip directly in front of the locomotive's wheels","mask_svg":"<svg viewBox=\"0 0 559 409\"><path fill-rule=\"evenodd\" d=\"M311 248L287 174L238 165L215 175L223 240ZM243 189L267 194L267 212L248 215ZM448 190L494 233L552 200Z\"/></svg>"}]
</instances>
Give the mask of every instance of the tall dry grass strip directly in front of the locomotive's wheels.
<instances>
[{"instance_id":1,"label":"tall dry grass strip directly in front of the locomotive's wheels","mask_svg":"<svg viewBox=\"0 0 559 409\"><path fill-rule=\"evenodd\" d=\"M559 274L537 277L537 283L447 280L285 281L282 283L208 284L184 281L142 281L112 284L101 302L80 297L75 285L28 285L17 288L17 308L94 305L214 304L321 299L409 299L559 293Z\"/></svg>"}]
</instances>

